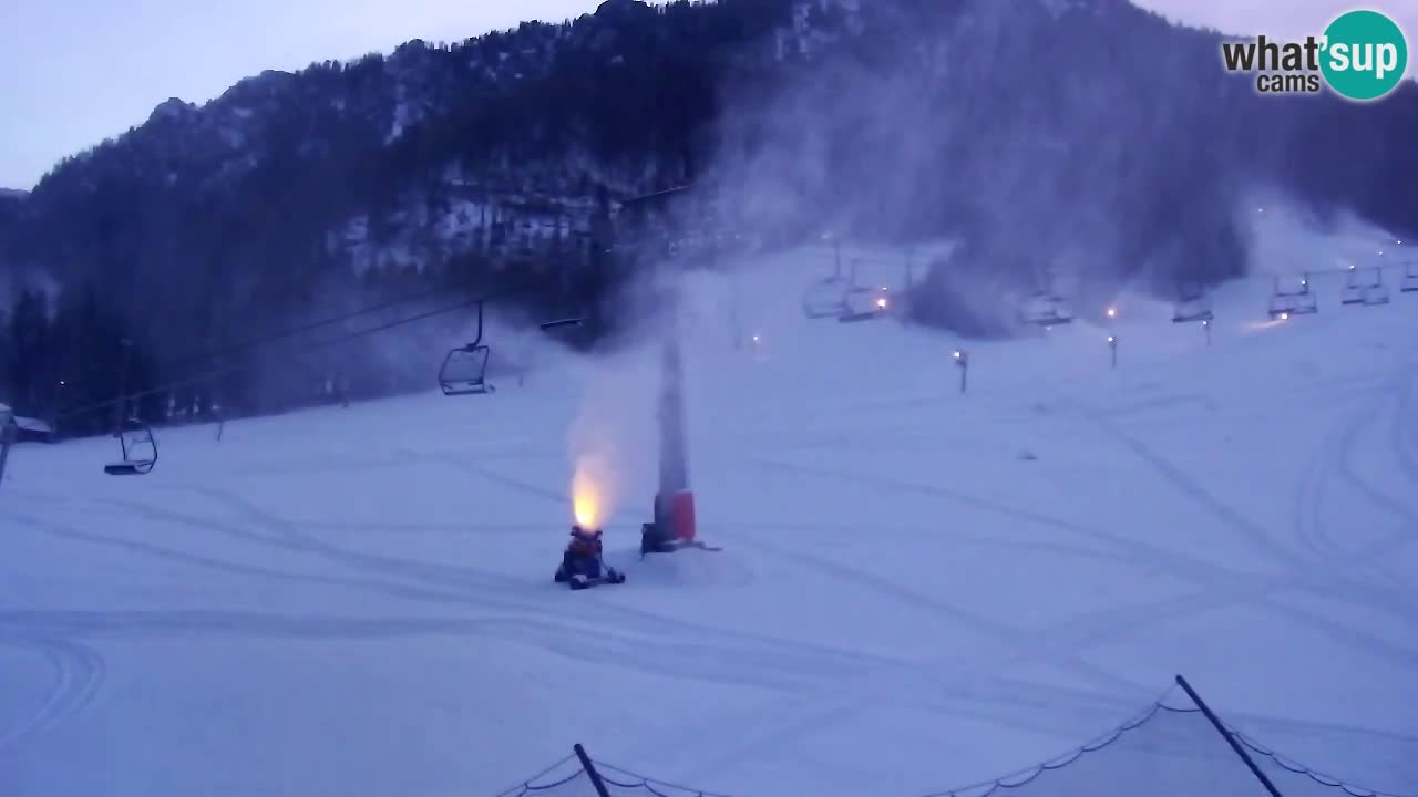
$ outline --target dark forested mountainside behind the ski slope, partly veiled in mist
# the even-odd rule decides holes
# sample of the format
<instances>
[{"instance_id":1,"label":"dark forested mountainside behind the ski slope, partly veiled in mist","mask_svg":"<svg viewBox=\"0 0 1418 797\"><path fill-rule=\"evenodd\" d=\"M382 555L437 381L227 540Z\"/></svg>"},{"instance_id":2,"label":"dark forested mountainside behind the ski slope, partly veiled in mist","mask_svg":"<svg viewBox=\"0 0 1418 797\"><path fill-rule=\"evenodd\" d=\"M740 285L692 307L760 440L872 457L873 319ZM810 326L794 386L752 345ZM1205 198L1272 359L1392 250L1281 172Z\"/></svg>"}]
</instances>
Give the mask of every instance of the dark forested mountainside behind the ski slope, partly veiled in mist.
<instances>
[{"instance_id":1,"label":"dark forested mountainside behind the ski slope, partly veiled in mist","mask_svg":"<svg viewBox=\"0 0 1418 797\"><path fill-rule=\"evenodd\" d=\"M332 340L485 292L598 306L638 268L620 203L689 182L763 240L960 238L922 321L980 333L966 285L1046 265L1159 291L1244 272L1254 189L1418 225L1412 85L1259 96L1218 41L1123 0L610 0L172 99L0 197L3 394L94 431L112 410L72 410L121 390L164 418L423 387L467 315Z\"/></svg>"}]
</instances>

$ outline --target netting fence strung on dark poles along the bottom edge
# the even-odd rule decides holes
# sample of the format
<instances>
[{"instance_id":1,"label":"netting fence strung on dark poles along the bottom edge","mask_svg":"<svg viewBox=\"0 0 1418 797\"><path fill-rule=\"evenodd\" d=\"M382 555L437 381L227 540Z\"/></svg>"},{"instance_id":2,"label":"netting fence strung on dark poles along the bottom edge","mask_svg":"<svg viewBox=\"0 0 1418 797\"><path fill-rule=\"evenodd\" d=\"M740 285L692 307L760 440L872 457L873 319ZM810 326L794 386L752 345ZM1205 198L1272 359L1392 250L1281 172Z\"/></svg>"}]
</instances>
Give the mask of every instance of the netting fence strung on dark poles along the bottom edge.
<instances>
[{"instance_id":1,"label":"netting fence strung on dark poles along the bottom edge","mask_svg":"<svg viewBox=\"0 0 1418 797\"><path fill-rule=\"evenodd\" d=\"M1173 691L1051 760L925 797L1268 797L1266 781L1283 797L1418 797L1356 786L1306 767L1228 725L1221 723L1221 729L1185 693ZM591 760L591 767L611 797L729 797L600 760ZM573 754L498 797L598 797L596 786Z\"/></svg>"}]
</instances>

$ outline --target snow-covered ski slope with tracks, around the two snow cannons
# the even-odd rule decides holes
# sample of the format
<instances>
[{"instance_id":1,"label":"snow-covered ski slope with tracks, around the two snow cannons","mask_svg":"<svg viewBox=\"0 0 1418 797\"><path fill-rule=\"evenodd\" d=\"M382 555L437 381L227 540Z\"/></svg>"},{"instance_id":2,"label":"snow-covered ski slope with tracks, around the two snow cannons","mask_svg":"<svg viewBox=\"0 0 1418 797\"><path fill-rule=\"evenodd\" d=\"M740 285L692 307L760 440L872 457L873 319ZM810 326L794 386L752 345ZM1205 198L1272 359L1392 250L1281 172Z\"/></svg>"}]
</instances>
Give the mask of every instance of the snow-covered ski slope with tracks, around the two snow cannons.
<instances>
[{"instance_id":1,"label":"snow-covered ski slope with tracks, around the two snow cannons","mask_svg":"<svg viewBox=\"0 0 1418 797\"><path fill-rule=\"evenodd\" d=\"M1418 294L1341 308L1316 275L1319 315L1269 322L1238 282L1210 346L1120 296L1113 326L971 345L961 394L944 335L803 318L830 258L693 281L722 553L638 560L652 349L160 431L147 476L105 476L111 440L17 448L0 793L492 794L580 742L708 791L912 797L1076 747L1176 674L1314 769L1418 791ZM625 586L552 583L573 454Z\"/></svg>"}]
</instances>

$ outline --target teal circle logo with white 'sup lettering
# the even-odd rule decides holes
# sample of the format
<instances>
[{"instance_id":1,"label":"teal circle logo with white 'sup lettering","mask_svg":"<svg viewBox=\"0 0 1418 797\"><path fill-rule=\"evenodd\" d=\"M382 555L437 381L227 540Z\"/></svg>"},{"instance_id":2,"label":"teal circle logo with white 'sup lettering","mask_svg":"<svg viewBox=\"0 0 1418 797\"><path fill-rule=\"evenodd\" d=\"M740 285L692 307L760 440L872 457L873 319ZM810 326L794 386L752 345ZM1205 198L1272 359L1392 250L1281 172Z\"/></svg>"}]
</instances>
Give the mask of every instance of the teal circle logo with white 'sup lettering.
<instances>
[{"instance_id":1,"label":"teal circle logo with white 'sup lettering","mask_svg":"<svg viewBox=\"0 0 1418 797\"><path fill-rule=\"evenodd\" d=\"M1408 43L1378 11L1350 11L1324 28L1320 71L1336 92L1357 101L1394 91L1408 71Z\"/></svg>"}]
</instances>

